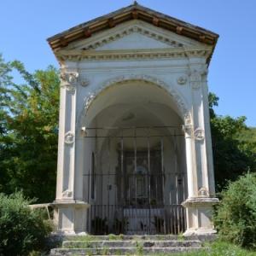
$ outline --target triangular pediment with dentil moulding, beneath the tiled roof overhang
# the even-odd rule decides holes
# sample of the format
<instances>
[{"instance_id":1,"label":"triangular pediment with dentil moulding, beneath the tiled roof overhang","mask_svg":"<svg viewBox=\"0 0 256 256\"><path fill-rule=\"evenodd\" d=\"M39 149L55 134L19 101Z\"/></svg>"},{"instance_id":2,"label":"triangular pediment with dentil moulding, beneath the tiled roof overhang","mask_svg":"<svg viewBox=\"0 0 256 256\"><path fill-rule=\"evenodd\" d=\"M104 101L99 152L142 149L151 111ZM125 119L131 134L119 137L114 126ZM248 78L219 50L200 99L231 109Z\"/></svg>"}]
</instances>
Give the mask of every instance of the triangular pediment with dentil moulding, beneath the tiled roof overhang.
<instances>
[{"instance_id":1,"label":"triangular pediment with dentil moulding, beneath the tiled roof overhang","mask_svg":"<svg viewBox=\"0 0 256 256\"><path fill-rule=\"evenodd\" d=\"M118 50L118 49L166 49L200 47L201 44L190 38L151 26L142 20L131 20L93 38L86 38L69 44L67 49Z\"/></svg>"}]
</instances>

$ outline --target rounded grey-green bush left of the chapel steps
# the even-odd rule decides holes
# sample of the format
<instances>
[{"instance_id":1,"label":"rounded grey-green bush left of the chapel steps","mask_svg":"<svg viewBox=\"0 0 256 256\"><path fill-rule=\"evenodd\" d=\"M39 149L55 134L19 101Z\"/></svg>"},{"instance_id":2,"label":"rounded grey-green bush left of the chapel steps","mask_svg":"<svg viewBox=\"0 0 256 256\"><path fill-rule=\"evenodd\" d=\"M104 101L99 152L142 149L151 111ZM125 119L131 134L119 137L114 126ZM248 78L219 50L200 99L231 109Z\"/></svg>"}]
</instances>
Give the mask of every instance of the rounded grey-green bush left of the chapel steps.
<instances>
[{"instance_id":1,"label":"rounded grey-green bush left of the chapel steps","mask_svg":"<svg viewBox=\"0 0 256 256\"><path fill-rule=\"evenodd\" d=\"M51 231L44 213L31 210L22 193L0 194L0 255L28 255L44 248Z\"/></svg>"}]
</instances>

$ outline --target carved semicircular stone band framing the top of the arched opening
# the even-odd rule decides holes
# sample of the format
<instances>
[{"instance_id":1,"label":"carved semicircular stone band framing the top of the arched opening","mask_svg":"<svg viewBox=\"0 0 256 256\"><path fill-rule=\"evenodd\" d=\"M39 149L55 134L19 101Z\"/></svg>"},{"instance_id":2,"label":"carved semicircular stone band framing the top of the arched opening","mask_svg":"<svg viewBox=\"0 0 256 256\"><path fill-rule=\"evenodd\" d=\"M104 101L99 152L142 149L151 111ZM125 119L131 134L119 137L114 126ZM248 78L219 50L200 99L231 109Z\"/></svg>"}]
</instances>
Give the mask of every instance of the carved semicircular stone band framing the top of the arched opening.
<instances>
[{"instance_id":1,"label":"carved semicircular stone band framing the top of the arched opening","mask_svg":"<svg viewBox=\"0 0 256 256\"><path fill-rule=\"evenodd\" d=\"M154 84L160 87L161 89L165 90L168 95L172 96L173 102L175 102L177 109L179 111L179 115L183 119L183 124L191 125L192 121L189 113L188 104L185 102L183 96L181 96L177 92L177 90L173 88L173 86L170 86L169 84L167 84L161 79L158 79L149 75L128 74L128 75L121 75L112 79L108 79L107 81L104 81L99 87L97 87L96 90L90 91L89 95L84 99L83 108L81 113L79 114L77 127L84 125L84 119L86 117L86 114L88 113L90 106L96 100L97 96L101 95L103 90L107 90L113 85L125 83L128 81L143 81L146 83Z\"/></svg>"}]
</instances>

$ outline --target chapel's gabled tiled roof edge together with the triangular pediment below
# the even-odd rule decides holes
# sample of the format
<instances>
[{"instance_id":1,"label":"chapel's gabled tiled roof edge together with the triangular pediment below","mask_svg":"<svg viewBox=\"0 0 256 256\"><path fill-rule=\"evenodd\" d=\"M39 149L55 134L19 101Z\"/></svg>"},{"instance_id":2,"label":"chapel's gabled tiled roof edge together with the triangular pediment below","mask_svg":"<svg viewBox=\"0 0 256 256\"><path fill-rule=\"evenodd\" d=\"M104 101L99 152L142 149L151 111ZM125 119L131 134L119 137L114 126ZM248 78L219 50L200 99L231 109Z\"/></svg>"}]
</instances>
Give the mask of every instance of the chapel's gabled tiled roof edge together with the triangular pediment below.
<instances>
[{"instance_id":1,"label":"chapel's gabled tiled roof edge together with the triangular pediment below","mask_svg":"<svg viewBox=\"0 0 256 256\"><path fill-rule=\"evenodd\" d=\"M131 32L126 29L123 34L120 32L115 33L116 29L126 26L131 21L144 22L151 27L150 31L156 30L156 32L148 33L143 25L142 32L139 30ZM150 39L146 40L146 38ZM165 49L166 47L175 49L188 47L192 49L193 46L194 48L204 49L205 46L208 46L212 53L218 40L218 34L183 20L177 20L154 9L148 9L135 2L108 15L74 26L47 40L57 58L61 56L60 52L66 49L80 51L81 49L82 51L96 49L98 52L100 52L100 49L113 48L140 49L142 47L141 42L137 42L137 46L133 45L134 41L140 40L143 41L143 49L146 50L148 48ZM123 46L121 47L120 45ZM207 63L210 59L207 58Z\"/></svg>"}]
</instances>

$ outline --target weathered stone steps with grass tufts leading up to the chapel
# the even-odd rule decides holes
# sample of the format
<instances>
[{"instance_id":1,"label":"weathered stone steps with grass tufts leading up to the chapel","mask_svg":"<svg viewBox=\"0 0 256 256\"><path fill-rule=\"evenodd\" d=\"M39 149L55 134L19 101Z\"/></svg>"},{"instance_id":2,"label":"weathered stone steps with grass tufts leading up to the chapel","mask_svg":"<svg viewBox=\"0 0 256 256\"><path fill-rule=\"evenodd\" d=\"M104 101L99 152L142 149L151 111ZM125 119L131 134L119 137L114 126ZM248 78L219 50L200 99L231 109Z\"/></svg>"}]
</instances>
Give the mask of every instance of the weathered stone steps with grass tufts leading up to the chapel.
<instances>
[{"instance_id":1,"label":"weathered stone steps with grass tufts leading up to the chapel","mask_svg":"<svg viewBox=\"0 0 256 256\"><path fill-rule=\"evenodd\" d=\"M196 237L180 236L66 236L49 255L156 255L200 250Z\"/></svg>"}]
</instances>

